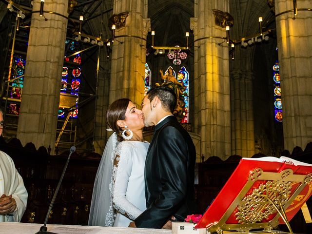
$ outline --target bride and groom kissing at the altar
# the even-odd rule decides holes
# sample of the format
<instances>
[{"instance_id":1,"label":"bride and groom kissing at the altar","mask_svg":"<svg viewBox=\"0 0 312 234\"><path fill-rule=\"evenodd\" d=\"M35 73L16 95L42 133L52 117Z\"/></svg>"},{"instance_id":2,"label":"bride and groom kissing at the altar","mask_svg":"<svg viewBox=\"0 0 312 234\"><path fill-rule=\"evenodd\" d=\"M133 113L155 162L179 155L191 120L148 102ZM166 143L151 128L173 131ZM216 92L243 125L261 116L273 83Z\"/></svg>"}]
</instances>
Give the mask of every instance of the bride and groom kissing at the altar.
<instances>
[{"instance_id":1,"label":"bride and groom kissing at the altar","mask_svg":"<svg viewBox=\"0 0 312 234\"><path fill-rule=\"evenodd\" d=\"M165 228L194 213L195 146L173 116L176 95L157 86L142 101L114 101L109 138L95 179L88 225ZM143 127L155 126L151 143Z\"/></svg>"}]
</instances>

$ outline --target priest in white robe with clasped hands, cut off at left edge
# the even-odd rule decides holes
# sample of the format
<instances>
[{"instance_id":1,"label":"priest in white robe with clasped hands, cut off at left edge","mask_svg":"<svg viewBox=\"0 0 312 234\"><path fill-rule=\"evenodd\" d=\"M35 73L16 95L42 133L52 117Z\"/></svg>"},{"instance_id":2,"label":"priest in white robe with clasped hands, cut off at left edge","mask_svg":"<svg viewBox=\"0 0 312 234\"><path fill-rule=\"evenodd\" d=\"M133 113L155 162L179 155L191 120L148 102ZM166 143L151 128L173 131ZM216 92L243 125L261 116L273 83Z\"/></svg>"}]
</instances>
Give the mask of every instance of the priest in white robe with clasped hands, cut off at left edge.
<instances>
[{"instance_id":1,"label":"priest in white robe with clasped hands, cut off at left edge","mask_svg":"<svg viewBox=\"0 0 312 234\"><path fill-rule=\"evenodd\" d=\"M0 136L4 127L0 110ZM0 222L20 222L26 210L27 191L10 156L0 151Z\"/></svg>"}]
</instances>

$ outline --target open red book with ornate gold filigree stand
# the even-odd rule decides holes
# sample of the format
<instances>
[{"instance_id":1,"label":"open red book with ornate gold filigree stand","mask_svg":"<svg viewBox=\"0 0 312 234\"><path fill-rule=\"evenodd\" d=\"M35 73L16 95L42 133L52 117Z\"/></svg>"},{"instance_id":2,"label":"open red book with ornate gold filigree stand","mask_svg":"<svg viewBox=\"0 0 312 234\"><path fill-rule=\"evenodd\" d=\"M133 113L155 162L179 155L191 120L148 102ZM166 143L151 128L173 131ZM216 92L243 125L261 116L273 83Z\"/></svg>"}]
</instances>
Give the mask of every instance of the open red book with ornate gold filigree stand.
<instances>
[{"instance_id":1,"label":"open red book with ornate gold filigree stand","mask_svg":"<svg viewBox=\"0 0 312 234\"><path fill-rule=\"evenodd\" d=\"M195 228L270 231L287 224L311 194L312 164L284 156L242 158Z\"/></svg>"}]
</instances>

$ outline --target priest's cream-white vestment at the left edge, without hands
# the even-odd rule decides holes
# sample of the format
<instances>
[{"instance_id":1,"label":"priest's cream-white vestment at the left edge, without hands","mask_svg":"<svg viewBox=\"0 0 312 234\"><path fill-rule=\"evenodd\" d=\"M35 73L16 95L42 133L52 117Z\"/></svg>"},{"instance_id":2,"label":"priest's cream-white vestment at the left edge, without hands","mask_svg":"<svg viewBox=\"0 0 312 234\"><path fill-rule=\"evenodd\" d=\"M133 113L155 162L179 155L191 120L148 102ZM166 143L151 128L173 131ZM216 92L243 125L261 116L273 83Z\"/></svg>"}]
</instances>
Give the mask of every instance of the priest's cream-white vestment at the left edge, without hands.
<instances>
[{"instance_id":1,"label":"priest's cream-white vestment at the left edge, without hands","mask_svg":"<svg viewBox=\"0 0 312 234\"><path fill-rule=\"evenodd\" d=\"M0 222L20 222L26 210L28 194L12 158L0 151L0 196L2 194L12 195L17 207L12 214L0 215Z\"/></svg>"}]
</instances>

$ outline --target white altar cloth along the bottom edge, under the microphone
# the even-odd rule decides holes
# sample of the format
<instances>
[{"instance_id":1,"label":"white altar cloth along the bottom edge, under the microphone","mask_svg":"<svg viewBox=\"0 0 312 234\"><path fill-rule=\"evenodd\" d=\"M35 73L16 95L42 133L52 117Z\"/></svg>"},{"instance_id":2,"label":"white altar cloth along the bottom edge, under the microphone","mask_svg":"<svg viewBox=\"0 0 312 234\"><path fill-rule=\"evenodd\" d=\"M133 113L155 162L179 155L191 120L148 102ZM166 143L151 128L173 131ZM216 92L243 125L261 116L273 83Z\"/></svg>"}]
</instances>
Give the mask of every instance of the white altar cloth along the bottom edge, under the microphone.
<instances>
[{"instance_id":1,"label":"white altar cloth along the bottom edge, under the microphone","mask_svg":"<svg viewBox=\"0 0 312 234\"><path fill-rule=\"evenodd\" d=\"M0 234L35 234L39 231L42 224L38 223L0 223ZM164 229L148 229L148 228L119 228L119 227L98 227L98 226L78 226L78 225L60 225L47 224L48 231L54 232L53 229L61 227L64 229L72 229L72 234L82 233L80 231L88 230L92 234L171 234L171 230ZM75 232L76 230L76 232Z\"/></svg>"}]
</instances>

